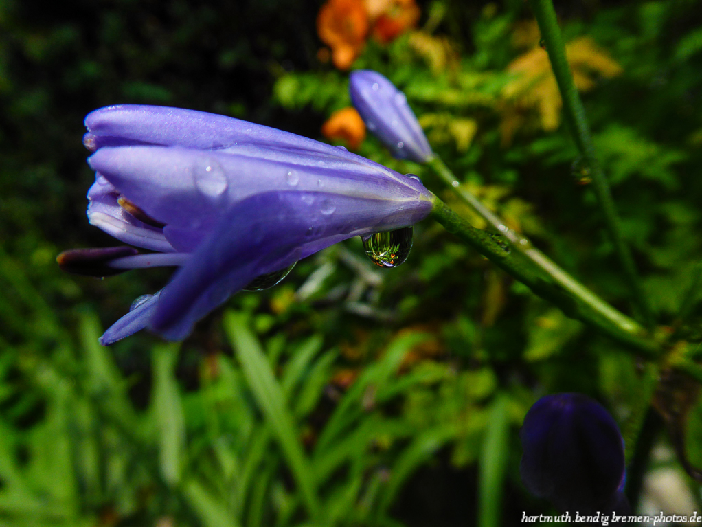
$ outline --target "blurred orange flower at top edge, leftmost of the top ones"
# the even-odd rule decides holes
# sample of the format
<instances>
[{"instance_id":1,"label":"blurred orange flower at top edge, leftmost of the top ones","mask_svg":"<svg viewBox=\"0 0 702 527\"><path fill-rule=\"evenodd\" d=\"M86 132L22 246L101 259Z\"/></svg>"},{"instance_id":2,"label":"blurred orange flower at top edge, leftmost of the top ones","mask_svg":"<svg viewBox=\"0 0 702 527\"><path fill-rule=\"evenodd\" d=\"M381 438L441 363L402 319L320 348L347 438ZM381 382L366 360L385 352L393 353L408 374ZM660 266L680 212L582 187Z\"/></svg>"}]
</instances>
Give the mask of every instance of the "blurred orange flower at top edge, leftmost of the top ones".
<instances>
[{"instance_id":1,"label":"blurred orange flower at top edge, leftmost of the top ones","mask_svg":"<svg viewBox=\"0 0 702 527\"><path fill-rule=\"evenodd\" d=\"M329 0L317 15L319 39L339 70L348 70L366 43L369 18L363 0Z\"/></svg>"}]
</instances>

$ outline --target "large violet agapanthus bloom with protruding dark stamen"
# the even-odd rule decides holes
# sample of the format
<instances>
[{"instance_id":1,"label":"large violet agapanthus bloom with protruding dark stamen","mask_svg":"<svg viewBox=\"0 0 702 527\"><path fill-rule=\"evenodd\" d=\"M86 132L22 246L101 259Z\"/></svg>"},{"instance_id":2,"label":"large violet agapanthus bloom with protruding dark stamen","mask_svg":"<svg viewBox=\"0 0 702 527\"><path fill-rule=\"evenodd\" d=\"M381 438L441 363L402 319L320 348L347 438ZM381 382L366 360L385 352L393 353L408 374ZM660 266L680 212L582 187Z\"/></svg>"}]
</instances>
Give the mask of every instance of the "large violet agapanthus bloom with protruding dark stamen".
<instances>
[{"instance_id":1,"label":"large violet agapanthus bloom with protruding dark stamen","mask_svg":"<svg viewBox=\"0 0 702 527\"><path fill-rule=\"evenodd\" d=\"M231 117L118 105L86 117L96 171L88 220L133 247L76 249L67 271L178 266L112 325L103 345L150 327L187 337L254 278L340 240L411 226L431 210L415 178L309 138Z\"/></svg>"}]
</instances>

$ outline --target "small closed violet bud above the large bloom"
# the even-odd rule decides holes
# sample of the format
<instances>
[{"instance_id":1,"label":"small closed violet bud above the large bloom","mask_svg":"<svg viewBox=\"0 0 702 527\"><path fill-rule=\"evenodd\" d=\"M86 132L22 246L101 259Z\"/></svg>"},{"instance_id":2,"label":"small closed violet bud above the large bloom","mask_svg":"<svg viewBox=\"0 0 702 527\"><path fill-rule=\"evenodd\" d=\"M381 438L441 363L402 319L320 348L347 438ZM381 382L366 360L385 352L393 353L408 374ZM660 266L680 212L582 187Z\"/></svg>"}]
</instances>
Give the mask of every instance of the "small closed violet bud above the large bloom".
<instances>
[{"instance_id":1,"label":"small closed violet bud above the large bloom","mask_svg":"<svg viewBox=\"0 0 702 527\"><path fill-rule=\"evenodd\" d=\"M401 160L425 163L434 155L407 98L387 77L371 70L350 76L351 102L368 129L392 155Z\"/></svg>"}]
</instances>

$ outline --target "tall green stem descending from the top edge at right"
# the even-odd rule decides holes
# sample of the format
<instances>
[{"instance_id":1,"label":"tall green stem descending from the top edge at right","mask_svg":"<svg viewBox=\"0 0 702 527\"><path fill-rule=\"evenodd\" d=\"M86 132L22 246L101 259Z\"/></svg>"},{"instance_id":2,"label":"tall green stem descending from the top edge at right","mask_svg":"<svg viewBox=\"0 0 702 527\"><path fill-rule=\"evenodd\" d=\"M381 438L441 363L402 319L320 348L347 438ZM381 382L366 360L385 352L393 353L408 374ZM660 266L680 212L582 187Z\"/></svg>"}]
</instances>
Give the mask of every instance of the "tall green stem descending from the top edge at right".
<instances>
[{"instance_id":1,"label":"tall green stem descending from the top edge at right","mask_svg":"<svg viewBox=\"0 0 702 527\"><path fill-rule=\"evenodd\" d=\"M595 195L597 195L597 200L600 202L609 236L614 242L614 247L629 282L629 287L641 310L644 322L648 327L653 327L654 317L651 307L641 286L634 259L621 233L621 221L616 211L614 199L612 199L609 183L595 155L595 145L592 143L590 126L588 125L588 119L585 117L585 108L583 108L583 102L578 95L578 90L575 87L573 75L568 65L566 50L552 1L529 0L529 4L536 15L536 21L541 30L541 37L543 37L546 51L548 51L548 58L551 61L553 74L556 77L558 88L563 98L563 112L566 122L570 126L583 160L590 167L592 187L595 190Z\"/></svg>"}]
</instances>

